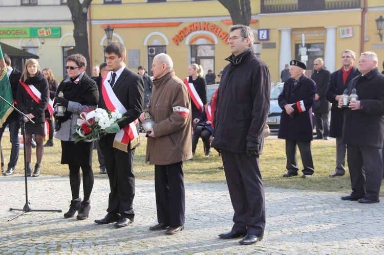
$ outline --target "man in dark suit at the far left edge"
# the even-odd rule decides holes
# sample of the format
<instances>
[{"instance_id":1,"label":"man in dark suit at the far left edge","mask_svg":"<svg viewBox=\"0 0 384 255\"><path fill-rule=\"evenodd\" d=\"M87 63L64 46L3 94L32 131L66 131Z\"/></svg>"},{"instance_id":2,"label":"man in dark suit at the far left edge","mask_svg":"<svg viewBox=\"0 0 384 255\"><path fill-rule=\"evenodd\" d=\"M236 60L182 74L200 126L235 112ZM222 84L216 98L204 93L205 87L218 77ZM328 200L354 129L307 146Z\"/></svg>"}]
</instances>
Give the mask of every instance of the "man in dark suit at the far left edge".
<instances>
[{"instance_id":1,"label":"man in dark suit at the far left edge","mask_svg":"<svg viewBox=\"0 0 384 255\"><path fill-rule=\"evenodd\" d=\"M13 100L15 101L18 80L20 80L20 78L22 77L22 73L18 71L16 68L11 67L11 59L7 54L4 54L4 60L7 65L7 74L8 74L9 82L11 83ZM7 171L4 172L4 175L12 175L15 172L15 167L17 164L19 147L20 147L19 140L18 140L18 130L20 128L19 120L20 120L20 115L18 114L17 111L13 110L11 114L9 114L7 120L3 123L3 127L0 128L0 150L1 150L1 157L2 157L2 171L4 167L4 158L3 158L3 150L1 149L1 141L2 141L4 130L7 127L7 124L9 126L10 141L12 144L11 155L9 156L8 168L7 168Z\"/></svg>"}]
</instances>

